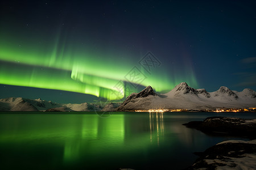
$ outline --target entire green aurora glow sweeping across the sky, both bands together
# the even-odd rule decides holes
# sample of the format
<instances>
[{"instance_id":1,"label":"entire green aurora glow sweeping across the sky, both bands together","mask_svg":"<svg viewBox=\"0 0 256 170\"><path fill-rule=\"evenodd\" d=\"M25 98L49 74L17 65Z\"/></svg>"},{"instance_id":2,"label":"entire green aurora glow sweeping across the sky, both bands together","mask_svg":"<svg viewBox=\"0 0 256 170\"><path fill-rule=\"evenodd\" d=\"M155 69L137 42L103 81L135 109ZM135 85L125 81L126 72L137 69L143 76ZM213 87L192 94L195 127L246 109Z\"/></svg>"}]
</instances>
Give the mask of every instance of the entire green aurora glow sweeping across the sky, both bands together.
<instances>
[{"instance_id":1,"label":"entire green aurora glow sweeping across the sky, both bands together","mask_svg":"<svg viewBox=\"0 0 256 170\"><path fill-rule=\"evenodd\" d=\"M127 91L130 83L150 85L157 92L168 92L184 81L197 86L193 71L170 76L163 65L148 73L139 65L139 58L118 52L96 52L71 44L60 33L53 42L40 37L40 43L25 35L10 36L0 33L1 84L79 92L109 100L138 92ZM142 73L137 78L134 66Z\"/></svg>"}]
</instances>

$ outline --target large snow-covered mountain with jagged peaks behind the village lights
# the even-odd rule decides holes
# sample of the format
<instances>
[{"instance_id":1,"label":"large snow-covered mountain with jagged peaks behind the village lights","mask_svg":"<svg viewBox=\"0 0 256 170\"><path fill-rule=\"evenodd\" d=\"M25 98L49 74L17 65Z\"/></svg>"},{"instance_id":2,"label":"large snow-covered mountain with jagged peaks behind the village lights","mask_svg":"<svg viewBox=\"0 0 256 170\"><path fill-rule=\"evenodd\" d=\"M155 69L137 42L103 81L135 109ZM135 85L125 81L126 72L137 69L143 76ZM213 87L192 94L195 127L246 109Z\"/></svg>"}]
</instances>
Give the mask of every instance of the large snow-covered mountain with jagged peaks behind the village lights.
<instances>
[{"instance_id":1,"label":"large snow-covered mountain with jagged peaks behind the village lights","mask_svg":"<svg viewBox=\"0 0 256 170\"><path fill-rule=\"evenodd\" d=\"M148 92L148 93L147 93ZM140 94L144 95L141 96ZM148 109L216 109L256 107L256 92L246 88L242 92L220 87L215 92L195 89L183 82L167 94L155 94L148 86L139 94L131 94L117 108L117 111Z\"/></svg>"}]
</instances>

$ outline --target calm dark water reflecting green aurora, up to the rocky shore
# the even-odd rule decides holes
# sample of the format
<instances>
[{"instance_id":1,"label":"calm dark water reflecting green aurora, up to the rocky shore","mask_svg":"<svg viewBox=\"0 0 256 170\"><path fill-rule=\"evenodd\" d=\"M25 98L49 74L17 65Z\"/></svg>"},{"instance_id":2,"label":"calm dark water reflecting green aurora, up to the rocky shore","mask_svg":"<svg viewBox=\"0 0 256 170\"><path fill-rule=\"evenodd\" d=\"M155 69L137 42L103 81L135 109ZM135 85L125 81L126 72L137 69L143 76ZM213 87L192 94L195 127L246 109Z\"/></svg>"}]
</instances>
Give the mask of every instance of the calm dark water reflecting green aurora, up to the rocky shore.
<instances>
[{"instance_id":1,"label":"calm dark water reflecting green aurora, up to the rocky shore","mask_svg":"<svg viewBox=\"0 0 256 170\"><path fill-rule=\"evenodd\" d=\"M1 112L0 169L183 169L218 142L182 124L255 113ZM247 140L247 139L245 139Z\"/></svg>"}]
</instances>

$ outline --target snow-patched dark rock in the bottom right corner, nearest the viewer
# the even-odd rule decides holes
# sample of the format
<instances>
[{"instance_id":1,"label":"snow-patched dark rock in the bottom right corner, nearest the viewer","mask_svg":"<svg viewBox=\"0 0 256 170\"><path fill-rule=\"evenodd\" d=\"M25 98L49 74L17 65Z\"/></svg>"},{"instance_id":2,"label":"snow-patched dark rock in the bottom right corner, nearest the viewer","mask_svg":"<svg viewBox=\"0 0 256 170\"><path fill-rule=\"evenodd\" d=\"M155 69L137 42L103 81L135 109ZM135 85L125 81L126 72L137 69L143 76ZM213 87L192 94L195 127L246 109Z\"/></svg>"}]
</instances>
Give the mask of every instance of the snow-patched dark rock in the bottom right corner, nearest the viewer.
<instances>
[{"instance_id":1,"label":"snow-patched dark rock in the bottom right corner, nearest the viewer","mask_svg":"<svg viewBox=\"0 0 256 170\"><path fill-rule=\"evenodd\" d=\"M256 140L224 141L196 155L200 158L187 170L256 169Z\"/></svg>"}]
</instances>

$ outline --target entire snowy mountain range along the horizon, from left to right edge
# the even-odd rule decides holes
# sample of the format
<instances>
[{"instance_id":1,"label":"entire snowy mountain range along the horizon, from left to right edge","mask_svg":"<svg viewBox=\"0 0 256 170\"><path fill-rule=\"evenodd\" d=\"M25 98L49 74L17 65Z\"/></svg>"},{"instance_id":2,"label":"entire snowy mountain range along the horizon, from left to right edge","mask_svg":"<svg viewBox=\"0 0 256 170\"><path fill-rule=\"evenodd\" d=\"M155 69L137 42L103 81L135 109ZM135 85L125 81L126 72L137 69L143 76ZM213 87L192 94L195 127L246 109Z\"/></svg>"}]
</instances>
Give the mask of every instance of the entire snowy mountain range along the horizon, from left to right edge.
<instances>
[{"instance_id":1,"label":"entire snowy mountain range along the horizon, from left to right edge","mask_svg":"<svg viewBox=\"0 0 256 170\"><path fill-rule=\"evenodd\" d=\"M149 109L216 109L256 107L256 92L245 88L232 91L220 87L217 91L207 92L195 89L183 82L166 94L156 94L151 86L139 93L129 95L123 103L58 104L42 99L9 97L0 99L0 111L135 111Z\"/></svg>"}]
</instances>

